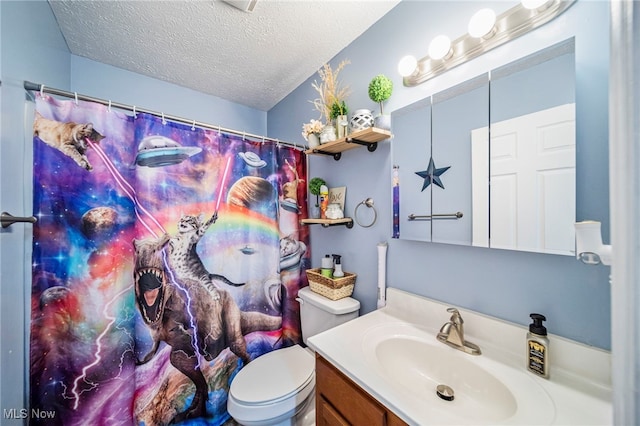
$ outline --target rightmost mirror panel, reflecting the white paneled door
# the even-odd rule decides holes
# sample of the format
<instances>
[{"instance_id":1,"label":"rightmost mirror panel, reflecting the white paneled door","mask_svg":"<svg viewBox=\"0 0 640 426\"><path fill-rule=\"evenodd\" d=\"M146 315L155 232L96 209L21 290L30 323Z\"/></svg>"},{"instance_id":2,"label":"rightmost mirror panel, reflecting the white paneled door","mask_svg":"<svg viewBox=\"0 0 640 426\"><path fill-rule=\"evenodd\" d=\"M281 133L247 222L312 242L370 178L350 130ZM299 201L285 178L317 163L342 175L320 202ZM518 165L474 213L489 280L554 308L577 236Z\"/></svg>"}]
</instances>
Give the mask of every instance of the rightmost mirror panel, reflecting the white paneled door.
<instances>
[{"instance_id":1,"label":"rightmost mirror panel, reflecting the white paneled door","mask_svg":"<svg viewBox=\"0 0 640 426\"><path fill-rule=\"evenodd\" d=\"M573 39L491 73L489 246L572 255Z\"/></svg>"}]
</instances>

